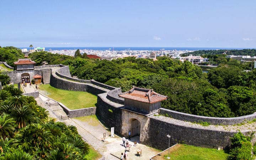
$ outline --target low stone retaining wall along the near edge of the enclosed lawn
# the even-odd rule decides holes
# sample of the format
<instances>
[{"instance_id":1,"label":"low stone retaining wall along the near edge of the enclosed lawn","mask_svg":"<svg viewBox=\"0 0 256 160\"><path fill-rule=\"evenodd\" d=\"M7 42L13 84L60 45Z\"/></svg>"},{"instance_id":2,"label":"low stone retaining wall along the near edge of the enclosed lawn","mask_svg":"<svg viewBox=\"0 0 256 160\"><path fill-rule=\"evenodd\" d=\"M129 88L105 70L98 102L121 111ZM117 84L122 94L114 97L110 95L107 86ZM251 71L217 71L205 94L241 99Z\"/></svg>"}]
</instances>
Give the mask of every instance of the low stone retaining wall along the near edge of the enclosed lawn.
<instances>
[{"instance_id":1,"label":"low stone retaining wall along the near edge of the enclosed lawn","mask_svg":"<svg viewBox=\"0 0 256 160\"><path fill-rule=\"evenodd\" d=\"M90 116L90 115L94 115L96 112L96 107L70 110L68 107L66 107L60 102L59 102L59 106L63 108L63 111L68 115L69 118Z\"/></svg>"}]
</instances>

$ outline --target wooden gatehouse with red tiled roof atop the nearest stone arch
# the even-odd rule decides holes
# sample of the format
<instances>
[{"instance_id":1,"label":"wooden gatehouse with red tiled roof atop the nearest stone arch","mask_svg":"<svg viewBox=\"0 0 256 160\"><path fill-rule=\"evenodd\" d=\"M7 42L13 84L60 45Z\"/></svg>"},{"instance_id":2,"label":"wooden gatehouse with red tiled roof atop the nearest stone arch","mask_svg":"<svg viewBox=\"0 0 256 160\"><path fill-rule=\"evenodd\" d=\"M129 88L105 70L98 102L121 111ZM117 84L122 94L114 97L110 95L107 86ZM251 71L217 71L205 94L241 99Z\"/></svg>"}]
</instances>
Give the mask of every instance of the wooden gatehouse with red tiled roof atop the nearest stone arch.
<instances>
[{"instance_id":1,"label":"wooden gatehouse with red tiled roof atop the nearest stone arch","mask_svg":"<svg viewBox=\"0 0 256 160\"><path fill-rule=\"evenodd\" d=\"M166 100L167 96L160 95L153 89L143 89L133 87L127 92L119 94L124 98L124 109L132 110L141 114L154 114L161 108L161 101Z\"/></svg>"}]
</instances>

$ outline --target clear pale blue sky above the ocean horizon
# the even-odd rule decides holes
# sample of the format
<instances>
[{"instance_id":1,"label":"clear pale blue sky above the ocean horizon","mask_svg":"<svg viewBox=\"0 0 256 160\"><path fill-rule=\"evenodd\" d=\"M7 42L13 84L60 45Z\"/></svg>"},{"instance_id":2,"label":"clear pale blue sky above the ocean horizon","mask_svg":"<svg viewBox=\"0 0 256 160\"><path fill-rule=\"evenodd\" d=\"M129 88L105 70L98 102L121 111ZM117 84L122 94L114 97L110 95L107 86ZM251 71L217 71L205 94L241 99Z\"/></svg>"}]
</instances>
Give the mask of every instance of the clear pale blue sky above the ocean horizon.
<instances>
[{"instance_id":1,"label":"clear pale blue sky above the ocean horizon","mask_svg":"<svg viewBox=\"0 0 256 160\"><path fill-rule=\"evenodd\" d=\"M0 46L256 48L255 0L1 0Z\"/></svg>"}]
</instances>

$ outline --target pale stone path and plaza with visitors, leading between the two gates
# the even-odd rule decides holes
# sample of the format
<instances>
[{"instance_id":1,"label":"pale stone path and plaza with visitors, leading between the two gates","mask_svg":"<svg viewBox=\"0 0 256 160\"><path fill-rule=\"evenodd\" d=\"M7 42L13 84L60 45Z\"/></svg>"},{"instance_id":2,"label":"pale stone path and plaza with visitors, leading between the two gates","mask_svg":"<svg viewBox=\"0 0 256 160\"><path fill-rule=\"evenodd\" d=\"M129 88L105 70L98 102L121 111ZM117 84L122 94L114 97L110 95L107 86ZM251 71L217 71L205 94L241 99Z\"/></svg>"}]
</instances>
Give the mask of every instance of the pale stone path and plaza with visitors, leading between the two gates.
<instances>
[{"instance_id":1,"label":"pale stone path and plaza with visitors, leading between the two gates","mask_svg":"<svg viewBox=\"0 0 256 160\"><path fill-rule=\"evenodd\" d=\"M65 114L65 112L62 110L60 106L54 106L49 107L46 105L46 101L49 100L46 96L42 95L44 92L40 90L39 86L39 92L41 93L38 98L36 98L36 101L38 105L44 107L49 111L49 116L56 118L57 121L62 121L66 125L73 125L78 129L78 133L81 135L81 137L90 144L92 147L94 147L101 155L102 160L118 160L121 156L121 153L124 153L126 148L122 146L122 138L114 135L114 137L110 137L110 131L101 124L100 121L98 121L96 118L94 122L86 122L86 121L80 121L79 118L69 118L65 120L58 119L58 116L61 114ZM29 84L27 87L23 87L23 90L25 92L34 92L35 91L35 85L32 85L32 87L29 87ZM54 102L54 100L50 100L50 102ZM103 141L103 133L106 133L106 139ZM133 145L133 142L138 142L137 146L132 146L130 148L130 151L128 153L128 159L129 160L145 160L150 159L154 155L159 153L159 150L156 150L154 148L148 147L143 144L139 144L139 137L132 137L129 141L130 144ZM137 149L142 149L142 156L137 156ZM128 150L128 148L127 148Z\"/></svg>"}]
</instances>

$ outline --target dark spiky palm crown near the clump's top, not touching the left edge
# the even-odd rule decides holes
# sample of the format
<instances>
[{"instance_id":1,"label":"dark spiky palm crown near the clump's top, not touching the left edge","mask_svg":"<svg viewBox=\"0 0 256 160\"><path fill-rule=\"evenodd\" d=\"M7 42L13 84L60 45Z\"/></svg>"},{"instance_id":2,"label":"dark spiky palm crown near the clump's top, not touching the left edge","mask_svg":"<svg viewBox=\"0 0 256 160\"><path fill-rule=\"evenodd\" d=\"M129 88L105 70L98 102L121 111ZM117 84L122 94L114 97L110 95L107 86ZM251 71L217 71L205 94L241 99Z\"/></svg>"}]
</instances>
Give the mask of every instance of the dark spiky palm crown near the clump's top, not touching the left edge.
<instances>
[{"instance_id":1,"label":"dark spiky palm crown near the clump's top, not touching the left edge","mask_svg":"<svg viewBox=\"0 0 256 160\"><path fill-rule=\"evenodd\" d=\"M34 120L34 112L29 106L12 108L10 115L18 124L18 128L26 127L26 123Z\"/></svg>"}]
</instances>

